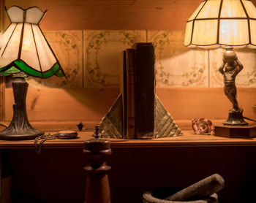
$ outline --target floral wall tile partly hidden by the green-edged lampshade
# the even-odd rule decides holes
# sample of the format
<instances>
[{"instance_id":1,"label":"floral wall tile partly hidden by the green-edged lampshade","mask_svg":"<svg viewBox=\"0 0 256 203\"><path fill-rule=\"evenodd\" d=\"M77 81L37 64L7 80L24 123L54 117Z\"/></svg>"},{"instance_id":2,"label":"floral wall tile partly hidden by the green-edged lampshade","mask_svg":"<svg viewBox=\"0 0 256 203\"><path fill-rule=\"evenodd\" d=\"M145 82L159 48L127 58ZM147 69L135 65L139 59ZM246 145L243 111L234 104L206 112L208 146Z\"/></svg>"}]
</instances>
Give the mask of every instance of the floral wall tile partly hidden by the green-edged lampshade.
<instances>
[{"instance_id":1,"label":"floral wall tile partly hidden by the green-edged lampshade","mask_svg":"<svg viewBox=\"0 0 256 203\"><path fill-rule=\"evenodd\" d=\"M56 76L48 79L29 77L29 84L50 88L83 87L82 31L45 31L44 34L60 61L67 79Z\"/></svg>"}]
</instances>

